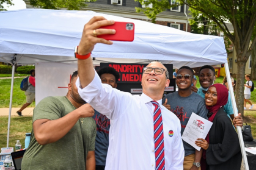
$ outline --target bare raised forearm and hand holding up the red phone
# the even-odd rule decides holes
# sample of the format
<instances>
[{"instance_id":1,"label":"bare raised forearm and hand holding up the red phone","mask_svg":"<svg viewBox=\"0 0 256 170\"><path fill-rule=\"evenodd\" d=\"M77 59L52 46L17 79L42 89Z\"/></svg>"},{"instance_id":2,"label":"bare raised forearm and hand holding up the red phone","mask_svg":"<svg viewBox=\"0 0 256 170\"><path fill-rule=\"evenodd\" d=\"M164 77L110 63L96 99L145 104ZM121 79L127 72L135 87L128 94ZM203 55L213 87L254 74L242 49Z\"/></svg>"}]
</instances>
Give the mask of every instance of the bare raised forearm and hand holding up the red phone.
<instances>
[{"instance_id":1,"label":"bare raised forearm and hand holding up the red phone","mask_svg":"<svg viewBox=\"0 0 256 170\"><path fill-rule=\"evenodd\" d=\"M114 24L114 21L108 21L103 16L93 16L93 18L84 26L77 54L84 56L90 54L97 43L112 44L112 41L97 37L97 35L102 34L115 34L115 30L113 29L100 29L100 27L112 24ZM85 56L84 59L78 59L78 74L82 88L92 82L95 76L92 57L86 58Z\"/></svg>"}]
</instances>

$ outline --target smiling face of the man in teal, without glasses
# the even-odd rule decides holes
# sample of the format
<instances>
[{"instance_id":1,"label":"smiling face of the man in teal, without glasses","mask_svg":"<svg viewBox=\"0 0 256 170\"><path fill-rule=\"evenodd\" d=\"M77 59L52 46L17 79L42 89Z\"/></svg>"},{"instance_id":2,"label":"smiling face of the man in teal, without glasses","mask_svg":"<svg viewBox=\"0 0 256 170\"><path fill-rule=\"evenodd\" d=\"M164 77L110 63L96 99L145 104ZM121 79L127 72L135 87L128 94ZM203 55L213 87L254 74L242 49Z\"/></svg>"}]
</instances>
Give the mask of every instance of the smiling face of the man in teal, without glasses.
<instances>
[{"instance_id":1,"label":"smiling face of the man in teal, without glasses","mask_svg":"<svg viewBox=\"0 0 256 170\"><path fill-rule=\"evenodd\" d=\"M199 73L199 82L203 88L209 88L215 79L215 73L210 68L202 69Z\"/></svg>"}]
</instances>

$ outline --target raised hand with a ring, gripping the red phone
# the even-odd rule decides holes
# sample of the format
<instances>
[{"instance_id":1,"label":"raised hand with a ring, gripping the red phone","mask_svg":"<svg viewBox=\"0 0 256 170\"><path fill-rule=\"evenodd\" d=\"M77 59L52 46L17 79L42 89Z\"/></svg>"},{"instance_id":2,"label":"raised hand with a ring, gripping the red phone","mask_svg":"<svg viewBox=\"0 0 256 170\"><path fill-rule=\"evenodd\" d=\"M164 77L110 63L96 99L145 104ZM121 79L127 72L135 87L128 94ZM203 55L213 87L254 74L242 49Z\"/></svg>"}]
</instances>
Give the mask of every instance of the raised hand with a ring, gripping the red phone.
<instances>
[{"instance_id":1,"label":"raised hand with a ring, gripping the red phone","mask_svg":"<svg viewBox=\"0 0 256 170\"><path fill-rule=\"evenodd\" d=\"M115 21L106 20L103 16L93 16L92 19L84 26L82 31L82 38L79 43L78 54L86 55L92 52L95 44L112 44L112 41L105 40L103 38L97 38L97 35L102 34L115 34L114 29L100 29L103 26L109 26L114 24Z\"/></svg>"}]
</instances>

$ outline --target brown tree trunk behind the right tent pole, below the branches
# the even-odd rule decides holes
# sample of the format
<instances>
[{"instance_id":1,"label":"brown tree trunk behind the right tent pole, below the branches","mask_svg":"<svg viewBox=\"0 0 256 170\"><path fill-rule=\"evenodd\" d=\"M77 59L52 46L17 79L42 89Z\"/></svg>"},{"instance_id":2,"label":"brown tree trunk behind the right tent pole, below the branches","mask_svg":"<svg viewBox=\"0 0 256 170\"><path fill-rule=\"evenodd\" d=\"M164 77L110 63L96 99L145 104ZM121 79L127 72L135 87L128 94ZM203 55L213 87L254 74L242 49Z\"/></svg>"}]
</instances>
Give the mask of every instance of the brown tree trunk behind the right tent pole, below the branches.
<instances>
[{"instance_id":1,"label":"brown tree trunk behind the right tent pole, below the branches","mask_svg":"<svg viewBox=\"0 0 256 170\"><path fill-rule=\"evenodd\" d=\"M237 56L238 58L239 56ZM241 57L240 57L241 58ZM244 74L246 68L246 61L238 60L237 62L237 74L236 74L236 106L238 108L238 113L244 116Z\"/></svg>"}]
</instances>

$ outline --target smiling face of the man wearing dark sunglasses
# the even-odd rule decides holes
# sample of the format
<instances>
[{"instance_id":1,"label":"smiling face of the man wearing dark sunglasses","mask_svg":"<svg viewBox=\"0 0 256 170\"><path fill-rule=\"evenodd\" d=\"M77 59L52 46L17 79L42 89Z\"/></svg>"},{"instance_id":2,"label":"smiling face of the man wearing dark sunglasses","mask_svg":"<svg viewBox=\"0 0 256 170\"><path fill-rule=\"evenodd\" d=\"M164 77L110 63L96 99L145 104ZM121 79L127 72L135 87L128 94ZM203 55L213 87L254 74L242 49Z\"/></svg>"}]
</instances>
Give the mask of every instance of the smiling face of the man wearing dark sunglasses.
<instances>
[{"instance_id":1,"label":"smiling face of the man wearing dark sunglasses","mask_svg":"<svg viewBox=\"0 0 256 170\"><path fill-rule=\"evenodd\" d=\"M187 90L189 88L191 88L191 84L192 84L192 80L193 80L193 76L192 73L189 69L179 69L178 74L180 74L182 76L181 79L176 78L176 83L178 86L178 90ZM189 79L185 79L185 75L189 75Z\"/></svg>"}]
</instances>

